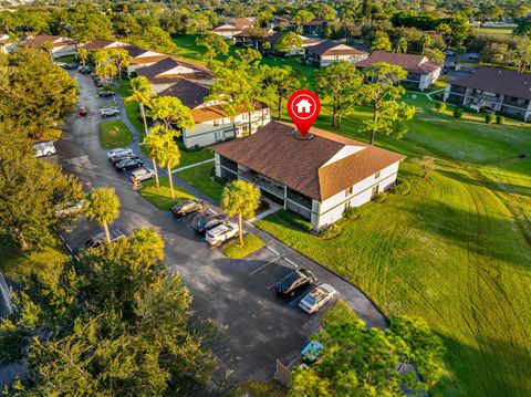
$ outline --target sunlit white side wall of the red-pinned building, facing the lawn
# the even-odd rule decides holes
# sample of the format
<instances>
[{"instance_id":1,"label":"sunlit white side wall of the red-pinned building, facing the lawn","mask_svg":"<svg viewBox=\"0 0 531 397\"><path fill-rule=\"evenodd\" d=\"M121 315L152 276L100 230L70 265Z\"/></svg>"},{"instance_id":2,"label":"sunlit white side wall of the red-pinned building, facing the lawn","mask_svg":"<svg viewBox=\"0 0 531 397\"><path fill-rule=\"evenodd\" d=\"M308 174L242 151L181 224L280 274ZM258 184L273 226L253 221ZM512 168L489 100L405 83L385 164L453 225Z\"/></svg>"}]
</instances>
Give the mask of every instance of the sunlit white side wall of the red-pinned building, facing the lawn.
<instances>
[{"instance_id":1,"label":"sunlit white side wall of the red-pinned building, facing the lawn","mask_svg":"<svg viewBox=\"0 0 531 397\"><path fill-rule=\"evenodd\" d=\"M313 223L312 219L313 228L319 230L325 224L340 220L343 217L347 202L350 202L351 207L360 207L371 201L374 186L378 186L378 191L388 190L396 181L398 166L399 161L382 169L378 179L375 179L374 175L372 175L361 180L353 186L352 195L348 197L345 196L345 190L343 190L322 201L316 223Z\"/></svg>"}]
</instances>

